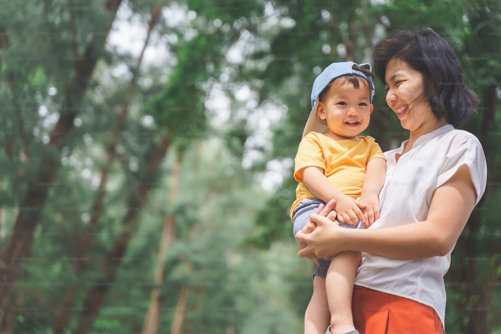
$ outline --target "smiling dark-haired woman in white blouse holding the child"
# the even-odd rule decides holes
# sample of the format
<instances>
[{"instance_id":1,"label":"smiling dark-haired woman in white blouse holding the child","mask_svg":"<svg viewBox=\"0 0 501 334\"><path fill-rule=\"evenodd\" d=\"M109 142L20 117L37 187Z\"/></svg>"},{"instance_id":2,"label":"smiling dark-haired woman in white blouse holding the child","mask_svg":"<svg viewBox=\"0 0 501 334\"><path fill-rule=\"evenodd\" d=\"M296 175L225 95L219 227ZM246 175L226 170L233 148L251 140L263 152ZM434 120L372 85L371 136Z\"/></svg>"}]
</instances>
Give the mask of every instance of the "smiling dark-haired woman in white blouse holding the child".
<instances>
[{"instance_id":1,"label":"smiling dark-haired woman in white blouse holding the child","mask_svg":"<svg viewBox=\"0 0 501 334\"><path fill-rule=\"evenodd\" d=\"M385 152L380 218L368 229L340 228L327 217L331 201L296 235L304 245L299 256L363 252L352 301L361 333L443 333L443 276L486 184L480 143L455 129L476 97L451 47L431 29L379 42L374 70L388 106L410 132Z\"/></svg>"}]
</instances>

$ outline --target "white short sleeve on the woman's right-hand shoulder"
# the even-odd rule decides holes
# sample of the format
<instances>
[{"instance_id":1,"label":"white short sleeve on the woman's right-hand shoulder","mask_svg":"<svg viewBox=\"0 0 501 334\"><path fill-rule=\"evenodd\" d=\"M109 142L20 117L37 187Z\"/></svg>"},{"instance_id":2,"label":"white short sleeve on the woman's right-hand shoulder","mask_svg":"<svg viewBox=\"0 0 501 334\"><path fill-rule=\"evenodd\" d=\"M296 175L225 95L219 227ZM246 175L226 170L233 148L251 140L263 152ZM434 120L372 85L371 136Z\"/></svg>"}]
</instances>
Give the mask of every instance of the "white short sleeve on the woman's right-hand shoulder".
<instances>
[{"instance_id":1,"label":"white short sleeve on the woman's right-hand shoulder","mask_svg":"<svg viewBox=\"0 0 501 334\"><path fill-rule=\"evenodd\" d=\"M453 136L438 173L436 188L447 182L462 165L468 167L471 182L475 187L476 205L485 191L487 162L478 139L466 131Z\"/></svg>"}]
</instances>

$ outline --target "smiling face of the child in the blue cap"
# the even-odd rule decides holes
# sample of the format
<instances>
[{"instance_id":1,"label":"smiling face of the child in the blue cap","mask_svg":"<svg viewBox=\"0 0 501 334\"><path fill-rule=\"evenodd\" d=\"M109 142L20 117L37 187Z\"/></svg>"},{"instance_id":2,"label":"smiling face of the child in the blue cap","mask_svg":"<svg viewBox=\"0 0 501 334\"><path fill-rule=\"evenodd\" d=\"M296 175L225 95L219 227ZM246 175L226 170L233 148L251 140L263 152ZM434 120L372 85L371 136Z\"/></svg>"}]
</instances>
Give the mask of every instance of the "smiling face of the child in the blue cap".
<instances>
[{"instance_id":1,"label":"smiling face of the child in the blue cap","mask_svg":"<svg viewBox=\"0 0 501 334\"><path fill-rule=\"evenodd\" d=\"M367 129L373 106L368 83L360 78L359 84L359 88L355 88L349 81L338 78L331 84L324 101L318 102L317 114L327 122L328 137L353 139Z\"/></svg>"}]
</instances>

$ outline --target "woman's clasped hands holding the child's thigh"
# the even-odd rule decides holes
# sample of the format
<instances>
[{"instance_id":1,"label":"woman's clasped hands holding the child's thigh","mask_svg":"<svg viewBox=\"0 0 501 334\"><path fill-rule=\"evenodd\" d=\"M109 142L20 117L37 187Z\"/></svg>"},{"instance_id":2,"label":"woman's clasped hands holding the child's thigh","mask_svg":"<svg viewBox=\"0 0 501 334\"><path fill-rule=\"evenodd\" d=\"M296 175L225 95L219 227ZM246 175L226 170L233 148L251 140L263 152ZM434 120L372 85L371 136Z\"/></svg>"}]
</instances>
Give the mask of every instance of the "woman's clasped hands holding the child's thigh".
<instances>
[{"instance_id":1,"label":"woman's clasped hands holding the child's thigh","mask_svg":"<svg viewBox=\"0 0 501 334\"><path fill-rule=\"evenodd\" d=\"M296 234L298 239L300 257L315 259L315 257L327 258L340 252L334 249L333 243L338 234L338 223L334 220L336 212L332 208L336 205L336 200L331 200L325 207L320 206L316 214L312 214L310 221ZM334 237L334 239L333 239Z\"/></svg>"}]
</instances>

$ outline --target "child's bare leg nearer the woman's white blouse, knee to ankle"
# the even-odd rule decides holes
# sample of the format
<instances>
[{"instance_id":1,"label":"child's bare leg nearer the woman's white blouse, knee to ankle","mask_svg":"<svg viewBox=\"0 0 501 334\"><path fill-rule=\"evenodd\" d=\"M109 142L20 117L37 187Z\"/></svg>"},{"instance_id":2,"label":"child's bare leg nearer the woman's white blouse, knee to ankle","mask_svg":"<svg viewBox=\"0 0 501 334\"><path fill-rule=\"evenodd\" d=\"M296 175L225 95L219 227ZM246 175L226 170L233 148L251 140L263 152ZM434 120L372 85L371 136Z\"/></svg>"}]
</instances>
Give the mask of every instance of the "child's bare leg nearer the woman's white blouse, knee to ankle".
<instances>
[{"instance_id":1,"label":"child's bare leg nearer the woman's white blouse, knee to ankle","mask_svg":"<svg viewBox=\"0 0 501 334\"><path fill-rule=\"evenodd\" d=\"M351 299L360 252L346 251L334 256L327 271L326 293L331 313L331 334L355 330Z\"/></svg>"}]
</instances>

